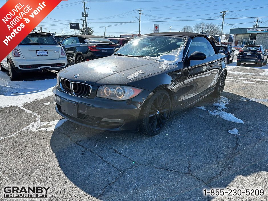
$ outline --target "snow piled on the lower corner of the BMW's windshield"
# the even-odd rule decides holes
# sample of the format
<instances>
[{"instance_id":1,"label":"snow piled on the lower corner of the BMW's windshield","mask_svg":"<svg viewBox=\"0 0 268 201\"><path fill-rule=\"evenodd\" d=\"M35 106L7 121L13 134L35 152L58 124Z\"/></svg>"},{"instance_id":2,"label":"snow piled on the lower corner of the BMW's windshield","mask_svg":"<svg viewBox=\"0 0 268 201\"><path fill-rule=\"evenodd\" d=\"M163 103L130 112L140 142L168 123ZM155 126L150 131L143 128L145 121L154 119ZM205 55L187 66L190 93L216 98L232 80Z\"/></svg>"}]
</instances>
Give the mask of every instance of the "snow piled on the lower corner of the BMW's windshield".
<instances>
[{"instance_id":1,"label":"snow piled on the lower corner of the BMW's windshield","mask_svg":"<svg viewBox=\"0 0 268 201\"><path fill-rule=\"evenodd\" d=\"M182 55L183 55L184 45L180 46L179 48L169 52L168 54L162 54L160 56L151 57L151 56L145 56L145 59L149 60L156 60L159 62L162 62L165 65L175 65L178 62L182 61Z\"/></svg>"}]
</instances>

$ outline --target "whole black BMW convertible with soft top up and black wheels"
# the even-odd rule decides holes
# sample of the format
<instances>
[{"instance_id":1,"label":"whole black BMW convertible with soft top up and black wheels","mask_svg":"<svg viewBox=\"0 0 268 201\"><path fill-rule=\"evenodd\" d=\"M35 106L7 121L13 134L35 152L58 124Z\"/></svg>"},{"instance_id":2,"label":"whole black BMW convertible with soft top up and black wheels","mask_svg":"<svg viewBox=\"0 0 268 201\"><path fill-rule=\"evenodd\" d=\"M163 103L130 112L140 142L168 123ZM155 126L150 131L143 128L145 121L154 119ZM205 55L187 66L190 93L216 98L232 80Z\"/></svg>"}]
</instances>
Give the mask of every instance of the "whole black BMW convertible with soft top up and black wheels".
<instances>
[{"instance_id":1,"label":"whole black BMW convertible with soft top up and black wheels","mask_svg":"<svg viewBox=\"0 0 268 201\"><path fill-rule=\"evenodd\" d=\"M56 111L108 131L157 135L170 115L224 90L225 55L208 37L167 32L138 36L112 56L57 74Z\"/></svg>"}]
</instances>

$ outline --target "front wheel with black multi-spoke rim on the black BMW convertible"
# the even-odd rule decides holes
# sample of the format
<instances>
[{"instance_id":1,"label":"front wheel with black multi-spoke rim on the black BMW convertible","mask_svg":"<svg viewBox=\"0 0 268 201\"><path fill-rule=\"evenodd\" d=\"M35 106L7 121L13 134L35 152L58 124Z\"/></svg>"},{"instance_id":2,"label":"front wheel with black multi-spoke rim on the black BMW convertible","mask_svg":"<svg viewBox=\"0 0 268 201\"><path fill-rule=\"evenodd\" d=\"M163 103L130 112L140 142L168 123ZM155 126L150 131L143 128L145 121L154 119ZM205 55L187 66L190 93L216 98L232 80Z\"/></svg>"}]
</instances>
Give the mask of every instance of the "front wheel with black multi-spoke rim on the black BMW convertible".
<instances>
[{"instance_id":1,"label":"front wheel with black multi-spoke rim on the black BMW convertible","mask_svg":"<svg viewBox=\"0 0 268 201\"><path fill-rule=\"evenodd\" d=\"M140 131L145 135L157 135L165 127L170 116L171 101L166 90L156 92L143 105Z\"/></svg>"}]
</instances>

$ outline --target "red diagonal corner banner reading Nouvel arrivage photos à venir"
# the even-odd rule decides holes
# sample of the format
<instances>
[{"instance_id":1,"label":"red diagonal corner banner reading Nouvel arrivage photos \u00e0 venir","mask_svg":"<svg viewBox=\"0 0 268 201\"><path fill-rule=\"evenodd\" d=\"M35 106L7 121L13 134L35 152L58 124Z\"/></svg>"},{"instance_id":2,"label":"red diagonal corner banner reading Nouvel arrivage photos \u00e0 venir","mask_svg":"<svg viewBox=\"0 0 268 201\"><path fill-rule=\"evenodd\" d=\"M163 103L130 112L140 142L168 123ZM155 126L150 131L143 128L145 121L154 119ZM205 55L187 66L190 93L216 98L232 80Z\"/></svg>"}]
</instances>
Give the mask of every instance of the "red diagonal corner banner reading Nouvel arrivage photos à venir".
<instances>
[{"instance_id":1,"label":"red diagonal corner banner reading Nouvel arrivage photos \u00e0 venir","mask_svg":"<svg viewBox=\"0 0 268 201\"><path fill-rule=\"evenodd\" d=\"M9 0L0 9L0 61L5 58L61 0Z\"/></svg>"}]
</instances>

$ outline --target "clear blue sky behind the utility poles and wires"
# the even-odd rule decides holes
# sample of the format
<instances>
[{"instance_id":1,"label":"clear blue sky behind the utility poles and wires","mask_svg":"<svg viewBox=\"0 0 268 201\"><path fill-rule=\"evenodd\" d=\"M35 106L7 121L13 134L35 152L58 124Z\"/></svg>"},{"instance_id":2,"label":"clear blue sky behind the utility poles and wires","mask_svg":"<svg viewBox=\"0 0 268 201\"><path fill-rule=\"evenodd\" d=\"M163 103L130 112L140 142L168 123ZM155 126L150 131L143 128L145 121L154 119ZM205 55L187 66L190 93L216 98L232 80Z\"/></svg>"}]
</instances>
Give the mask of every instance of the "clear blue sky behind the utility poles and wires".
<instances>
[{"instance_id":1,"label":"clear blue sky behind the utility poles and wires","mask_svg":"<svg viewBox=\"0 0 268 201\"><path fill-rule=\"evenodd\" d=\"M4 3L5 0L0 0L0 6ZM82 1L62 1L39 26L56 34L62 34L62 29L64 34L74 34L69 22L80 23L82 27L82 7ZM159 24L160 32L169 31L170 26L172 31L180 31L184 25L193 26L201 21L221 26L220 11L224 10L231 11L225 16L224 33L228 34L232 28L252 27L254 17L262 17L260 27L268 27L267 0L92 0L86 1L86 7L88 27L100 36L105 27L107 36L139 33L137 9L143 10L141 34L152 33L154 24Z\"/></svg>"}]
</instances>

